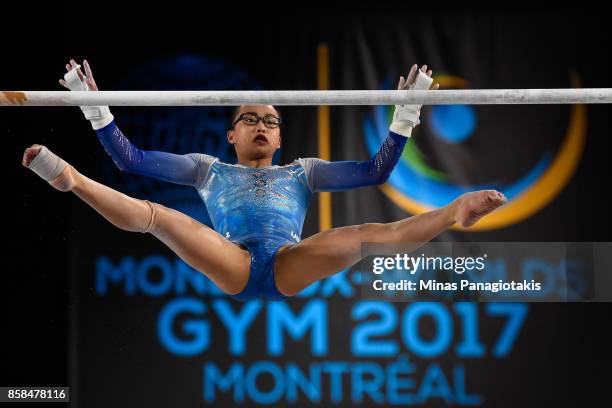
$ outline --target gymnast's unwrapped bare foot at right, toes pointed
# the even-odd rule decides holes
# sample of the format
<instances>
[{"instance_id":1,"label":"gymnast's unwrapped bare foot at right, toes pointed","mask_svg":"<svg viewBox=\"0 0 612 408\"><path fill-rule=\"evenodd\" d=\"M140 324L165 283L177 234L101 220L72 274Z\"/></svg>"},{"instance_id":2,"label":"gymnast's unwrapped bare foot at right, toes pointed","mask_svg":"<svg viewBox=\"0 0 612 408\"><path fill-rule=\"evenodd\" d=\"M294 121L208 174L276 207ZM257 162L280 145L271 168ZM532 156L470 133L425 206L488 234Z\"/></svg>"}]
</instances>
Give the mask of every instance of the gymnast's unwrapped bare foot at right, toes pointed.
<instances>
[{"instance_id":1,"label":"gymnast's unwrapped bare foot at right, toes pointed","mask_svg":"<svg viewBox=\"0 0 612 408\"><path fill-rule=\"evenodd\" d=\"M496 190L465 193L451 203L453 221L464 228L471 227L506 201L506 196Z\"/></svg>"}]
</instances>

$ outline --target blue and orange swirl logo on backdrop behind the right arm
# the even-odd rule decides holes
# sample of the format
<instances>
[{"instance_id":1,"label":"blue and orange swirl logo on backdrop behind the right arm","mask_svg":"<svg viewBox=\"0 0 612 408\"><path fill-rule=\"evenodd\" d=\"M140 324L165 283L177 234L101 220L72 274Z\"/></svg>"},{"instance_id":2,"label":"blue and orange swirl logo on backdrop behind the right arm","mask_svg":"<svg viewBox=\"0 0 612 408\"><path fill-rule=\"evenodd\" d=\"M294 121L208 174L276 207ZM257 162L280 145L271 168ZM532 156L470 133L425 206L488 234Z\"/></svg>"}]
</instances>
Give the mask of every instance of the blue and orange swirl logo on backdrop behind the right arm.
<instances>
[{"instance_id":1,"label":"blue and orange swirl logo on backdrop behind the right arm","mask_svg":"<svg viewBox=\"0 0 612 408\"><path fill-rule=\"evenodd\" d=\"M468 88L467 80L454 76L441 75L435 78L441 88ZM391 88L391 79L388 78L382 88ZM572 76L572 85L579 86L579 80ZM497 108L500 109L500 108ZM511 109L517 110L513 107ZM365 141L368 151L374 155L382 140L387 137L388 126L393 116L393 106L376 106L363 120ZM497 189L502 191L509 202L494 213L483 218L468 230L491 230L516 224L548 205L566 186L571 179L578 162L582 156L586 138L586 108L584 105L573 105L569 113L569 122L565 130L565 137L554 153L550 149L541 153L540 158L527 170L522 170L519 177L500 182L499 178L485 183L469 183L464 180L453 180L451 172L442 171L428 164L428 157L415 142L427 138L429 143L438 143L438 149L449 149L465 146L465 149L478 143L476 134L479 130L477 109L467 105L437 105L425 107L421 114L421 126L413 134L412 140L406 144L402 157L388 182L381 186L382 191L397 205L412 214L420 214L434 208L444 206L459 195L480 189ZM538 120L558 121L558 116L548 115ZM508 117L509 121L521 120L518 117ZM566 119L563 119L564 121ZM530 137L543 137L539 123L534 124L524 119L521 124L524 134ZM537 128L530 128L536 127ZM503 123L494 123L487 128L487 134L478 137L514 137L509 134ZM553 127L553 126L549 126ZM419 137L420 136L420 137ZM550 136L550 135L548 135ZM554 135L553 135L554 137ZM500 143L501 145L501 143ZM500 146L497 151L481 152L479 154L516 155L517 151L508 151ZM475 156L471 156L473 159ZM521 164L523 157L515 157L513 162ZM474 161L470 163L474 165ZM456 158L451 167L461 166L461 158ZM499 166L498 166L499 167ZM481 168L480 172L487 174L489 169ZM503 169L502 169L503 170ZM460 229L457 227L457 229Z\"/></svg>"}]
</instances>

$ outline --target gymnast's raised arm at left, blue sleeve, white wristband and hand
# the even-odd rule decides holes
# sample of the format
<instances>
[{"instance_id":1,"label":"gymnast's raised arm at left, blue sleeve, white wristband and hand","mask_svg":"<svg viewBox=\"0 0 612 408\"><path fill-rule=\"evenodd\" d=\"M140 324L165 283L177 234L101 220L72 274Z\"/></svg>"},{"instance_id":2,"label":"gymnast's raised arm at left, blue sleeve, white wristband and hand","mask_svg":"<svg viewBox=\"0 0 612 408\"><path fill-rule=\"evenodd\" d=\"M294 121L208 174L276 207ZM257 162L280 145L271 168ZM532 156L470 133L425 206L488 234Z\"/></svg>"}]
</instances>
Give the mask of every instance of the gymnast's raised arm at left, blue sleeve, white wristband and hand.
<instances>
[{"instance_id":1,"label":"gymnast's raised arm at left, blue sleeve, white wristband and hand","mask_svg":"<svg viewBox=\"0 0 612 408\"><path fill-rule=\"evenodd\" d=\"M86 60L83 61L83 65L86 75L71 59L70 64L66 64L68 72L63 80L60 79L60 84L72 91L97 91L98 86ZM198 183L201 161L198 156L207 155L179 155L139 149L119 130L108 106L83 106L81 110L85 118L91 122L102 146L120 170L171 183L190 186Z\"/></svg>"}]
</instances>

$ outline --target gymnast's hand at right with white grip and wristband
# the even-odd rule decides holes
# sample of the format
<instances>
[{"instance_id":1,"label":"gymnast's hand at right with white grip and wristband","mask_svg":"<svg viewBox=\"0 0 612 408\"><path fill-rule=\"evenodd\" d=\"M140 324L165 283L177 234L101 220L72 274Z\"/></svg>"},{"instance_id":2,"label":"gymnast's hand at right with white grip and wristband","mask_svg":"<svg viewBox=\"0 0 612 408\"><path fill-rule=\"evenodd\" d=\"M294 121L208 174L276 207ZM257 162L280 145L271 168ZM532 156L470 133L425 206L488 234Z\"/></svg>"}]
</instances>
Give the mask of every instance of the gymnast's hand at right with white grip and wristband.
<instances>
[{"instance_id":1,"label":"gymnast's hand at right with white grip and wristband","mask_svg":"<svg viewBox=\"0 0 612 408\"><path fill-rule=\"evenodd\" d=\"M433 71L431 69L428 70L427 65L423 65L418 71L417 69L417 65L414 64L406 78L400 76L399 83L397 84L398 91L436 90L440 87L440 84L433 83L431 78ZM393 122L389 129L399 135L410 137L412 129L420 123L421 106L395 105Z\"/></svg>"}]
</instances>

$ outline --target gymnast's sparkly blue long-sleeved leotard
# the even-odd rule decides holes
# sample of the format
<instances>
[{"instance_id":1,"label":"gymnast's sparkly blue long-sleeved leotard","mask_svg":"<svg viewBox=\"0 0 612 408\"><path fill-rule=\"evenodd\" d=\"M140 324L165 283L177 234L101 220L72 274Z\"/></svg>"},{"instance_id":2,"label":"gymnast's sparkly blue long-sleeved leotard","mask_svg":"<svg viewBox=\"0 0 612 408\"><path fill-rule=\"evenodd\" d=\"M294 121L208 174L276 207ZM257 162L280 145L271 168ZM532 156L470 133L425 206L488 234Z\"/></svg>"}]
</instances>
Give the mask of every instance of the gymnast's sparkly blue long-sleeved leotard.
<instances>
[{"instance_id":1,"label":"gymnast's sparkly blue long-sleeved leotard","mask_svg":"<svg viewBox=\"0 0 612 408\"><path fill-rule=\"evenodd\" d=\"M285 166L254 168L201 153L141 150L114 122L96 133L122 171L197 189L215 231L251 254L247 285L232 295L242 301L260 295L285 298L274 283L274 258L281 246L300 241L312 194L384 183L407 140L389 132L377 154L366 161L300 158Z\"/></svg>"}]
</instances>

